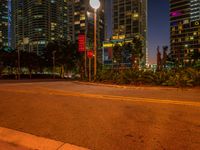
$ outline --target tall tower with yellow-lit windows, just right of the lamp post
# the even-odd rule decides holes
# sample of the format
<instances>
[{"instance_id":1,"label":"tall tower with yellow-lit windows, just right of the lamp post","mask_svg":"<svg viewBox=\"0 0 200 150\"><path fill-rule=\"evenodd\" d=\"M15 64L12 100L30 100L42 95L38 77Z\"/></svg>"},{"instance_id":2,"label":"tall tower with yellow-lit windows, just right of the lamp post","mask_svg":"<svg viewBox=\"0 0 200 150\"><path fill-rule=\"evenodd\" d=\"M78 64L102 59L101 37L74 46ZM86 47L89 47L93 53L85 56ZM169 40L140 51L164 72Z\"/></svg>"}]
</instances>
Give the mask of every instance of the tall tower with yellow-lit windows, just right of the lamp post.
<instances>
[{"instance_id":1,"label":"tall tower with yellow-lit windows, just right of the lamp post","mask_svg":"<svg viewBox=\"0 0 200 150\"><path fill-rule=\"evenodd\" d=\"M147 0L113 0L113 39L135 36L143 41L143 63L147 63Z\"/></svg>"}]
</instances>

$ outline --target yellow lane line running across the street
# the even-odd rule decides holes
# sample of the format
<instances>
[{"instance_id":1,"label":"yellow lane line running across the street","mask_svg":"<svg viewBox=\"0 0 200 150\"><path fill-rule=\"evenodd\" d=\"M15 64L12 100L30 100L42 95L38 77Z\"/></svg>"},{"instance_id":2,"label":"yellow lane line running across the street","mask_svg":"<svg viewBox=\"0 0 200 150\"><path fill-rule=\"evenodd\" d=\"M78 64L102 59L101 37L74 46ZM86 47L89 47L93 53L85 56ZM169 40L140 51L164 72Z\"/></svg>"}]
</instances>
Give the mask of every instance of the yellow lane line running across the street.
<instances>
[{"instance_id":1,"label":"yellow lane line running across the street","mask_svg":"<svg viewBox=\"0 0 200 150\"><path fill-rule=\"evenodd\" d=\"M69 92L63 90L54 90L49 88L40 87L40 92L25 91L25 90L8 90L0 89L0 91L15 92L15 93L26 93L26 94L52 94L59 96L73 96L73 97L85 97L85 98L96 98L96 99L107 99L107 100L119 100L119 101L129 101L129 102L143 102L143 103L157 103L157 104L174 104L174 105L187 105L200 107L200 102L192 101L177 101L168 99L154 99L154 98L140 98L140 97L127 97L127 96L112 96L112 95L99 95L99 94L89 94L89 93L78 93ZM43 92L46 90L47 92Z\"/></svg>"}]
</instances>

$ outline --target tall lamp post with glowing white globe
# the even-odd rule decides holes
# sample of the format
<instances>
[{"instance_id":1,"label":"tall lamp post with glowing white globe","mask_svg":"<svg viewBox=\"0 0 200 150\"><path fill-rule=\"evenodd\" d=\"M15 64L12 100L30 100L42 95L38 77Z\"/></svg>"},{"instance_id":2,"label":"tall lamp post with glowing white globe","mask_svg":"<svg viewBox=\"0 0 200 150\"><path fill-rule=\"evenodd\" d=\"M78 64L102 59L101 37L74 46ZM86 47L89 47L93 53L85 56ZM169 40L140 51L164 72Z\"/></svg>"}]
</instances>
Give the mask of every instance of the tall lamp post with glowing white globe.
<instances>
[{"instance_id":1,"label":"tall lamp post with glowing white globe","mask_svg":"<svg viewBox=\"0 0 200 150\"><path fill-rule=\"evenodd\" d=\"M97 74L97 9L100 7L99 0L90 0L90 6L94 9L94 77Z\"/></svg>"}]
</instances>

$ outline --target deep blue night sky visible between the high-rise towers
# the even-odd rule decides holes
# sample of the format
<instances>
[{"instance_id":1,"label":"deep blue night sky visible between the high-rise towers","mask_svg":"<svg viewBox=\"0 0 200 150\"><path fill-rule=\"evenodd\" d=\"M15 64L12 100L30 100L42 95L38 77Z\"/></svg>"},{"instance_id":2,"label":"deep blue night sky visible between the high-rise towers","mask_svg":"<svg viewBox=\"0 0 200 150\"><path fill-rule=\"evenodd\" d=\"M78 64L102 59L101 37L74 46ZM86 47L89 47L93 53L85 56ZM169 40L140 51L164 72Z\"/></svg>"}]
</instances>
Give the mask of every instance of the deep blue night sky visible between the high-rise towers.
<instances>
[{"instance_id":1,"label":"deep blue night sky visible between the high-rise towers","mask_svg":"<svg viewBox=\"0 0 200 150\"><path fill-rule=\"evenodd\" d=\"M106 0L107 35L112 35L111 1ZM157 46L169 46L169 0L148 0L148 49L149 63L156 62Z\"/></svg>"}]
</instances>

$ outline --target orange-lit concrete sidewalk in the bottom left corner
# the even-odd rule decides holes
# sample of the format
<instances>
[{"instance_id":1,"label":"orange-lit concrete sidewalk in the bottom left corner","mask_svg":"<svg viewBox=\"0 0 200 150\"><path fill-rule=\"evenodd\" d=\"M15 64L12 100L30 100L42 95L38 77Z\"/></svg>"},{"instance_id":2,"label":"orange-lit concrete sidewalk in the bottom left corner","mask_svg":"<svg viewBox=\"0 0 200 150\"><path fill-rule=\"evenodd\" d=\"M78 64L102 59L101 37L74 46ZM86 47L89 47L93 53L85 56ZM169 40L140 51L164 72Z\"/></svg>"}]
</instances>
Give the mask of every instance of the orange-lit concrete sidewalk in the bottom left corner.
<instances>
[{"instance_id":1,"label":"orange-lit concrete sidewalk in the bottom left corner","mask_svg":"<svg viewBox=\"0 0 200 150\"><path fill-rule=\"evenodd\" d=\"M0 150L88 150L88 149L0 127Z\"/></svg>"}]
</instances>

